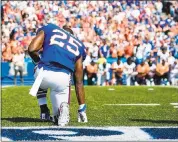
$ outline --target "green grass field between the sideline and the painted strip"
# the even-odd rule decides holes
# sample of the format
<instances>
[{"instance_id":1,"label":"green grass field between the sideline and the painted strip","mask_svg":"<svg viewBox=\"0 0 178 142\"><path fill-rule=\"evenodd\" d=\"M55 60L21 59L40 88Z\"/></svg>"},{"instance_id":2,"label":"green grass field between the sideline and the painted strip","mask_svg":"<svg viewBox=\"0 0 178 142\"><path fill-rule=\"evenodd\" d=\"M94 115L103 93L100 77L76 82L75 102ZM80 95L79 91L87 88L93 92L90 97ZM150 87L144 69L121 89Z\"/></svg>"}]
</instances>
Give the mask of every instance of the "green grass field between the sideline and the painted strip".
<instances>
[{"instance_id":1,"label":"green grass field between the sideline and the painted strip","mask_svg":"<svg viewBox=\"0 0 178 142\"><path fill-rule=\"evenodd\" d=\"M74 89L74 87L72 87ZM115 90L108 90L114 88ZM153 88L154 90L149 90ZM30 86L2 89L2 126L51 126L39 119L35 97ZM71 91L69 126L178 126L178 89L169 87L85 87L88 123L77 122L77 99ZM49 91L48 91L49 93ZM48 106L51 103L48 94ZM117 106L106 104L160 104L159 106ZM52 112L52 110L51 110Z\"/></svg>"}]
</instances>

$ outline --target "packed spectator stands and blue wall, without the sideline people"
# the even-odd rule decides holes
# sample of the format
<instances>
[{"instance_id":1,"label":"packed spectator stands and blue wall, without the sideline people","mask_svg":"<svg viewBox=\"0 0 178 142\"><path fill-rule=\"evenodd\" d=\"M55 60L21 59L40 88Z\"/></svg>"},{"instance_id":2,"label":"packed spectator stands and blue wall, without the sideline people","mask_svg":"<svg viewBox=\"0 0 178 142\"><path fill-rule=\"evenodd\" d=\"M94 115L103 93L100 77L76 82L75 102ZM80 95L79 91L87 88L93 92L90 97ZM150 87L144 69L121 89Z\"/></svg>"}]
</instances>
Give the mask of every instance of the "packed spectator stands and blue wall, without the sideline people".
<instances>
[{"instance_id":1,"label":"packed spectator stands and blue wall, without the sideline people","mask_svg":"<svg viewBox=\"0 0 178 142\"><path fill-rule=\"evenodd\" d=\"M169 64L169 71L168 76L162 79L174 85L170 76L178 77L177 1L2 1L1 11L2 84L13 84L13 73L9 72L13 68L14 52L20 50L26 54L36 30L48 22L60 27L70 26L84 42L88 48L88 61L84 67L102 57L111 65L117 60L124 64L131 57L136 64L133 72L145 61L149 64L150 72L156 74L152 64L156 66L165 60ZM10 41L12 33L16 42ZM31 84L34 65L27 54L24 60L24 82ZM87 77L88 73L85 73ZM110 85L112 80L117 80L113 74L110 68ZM146 73L143 79L151 81L148 75ZM128 74L124 71L123 85L127 85L126 76ZM133 85L136 78L137 75L131 78ZM149 85L146 81L140 85L146 84Z\"/></svg>"}]
</instances>

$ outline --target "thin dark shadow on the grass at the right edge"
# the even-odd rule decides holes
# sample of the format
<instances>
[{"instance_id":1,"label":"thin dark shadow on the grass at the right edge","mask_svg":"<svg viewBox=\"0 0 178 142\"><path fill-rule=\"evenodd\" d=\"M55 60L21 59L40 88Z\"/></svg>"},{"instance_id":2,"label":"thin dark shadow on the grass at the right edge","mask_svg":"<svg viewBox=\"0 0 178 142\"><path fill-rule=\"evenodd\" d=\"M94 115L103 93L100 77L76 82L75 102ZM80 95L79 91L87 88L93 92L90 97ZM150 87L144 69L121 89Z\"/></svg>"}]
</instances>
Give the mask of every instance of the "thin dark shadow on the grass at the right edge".
<instances>
[{"instance_id":1,"label":"thin dark shadow on the grass at the right edge","mask_svg":"<svg viewBox=\"0 0 178 142\"><path fill-rule=\"evenodd\" d=\"M130 121L137 121L137 122L178 124L178 121L175 121L175 120L152 120L152 119L129 119L129 120Z\"/></svg>"}]
</instances>

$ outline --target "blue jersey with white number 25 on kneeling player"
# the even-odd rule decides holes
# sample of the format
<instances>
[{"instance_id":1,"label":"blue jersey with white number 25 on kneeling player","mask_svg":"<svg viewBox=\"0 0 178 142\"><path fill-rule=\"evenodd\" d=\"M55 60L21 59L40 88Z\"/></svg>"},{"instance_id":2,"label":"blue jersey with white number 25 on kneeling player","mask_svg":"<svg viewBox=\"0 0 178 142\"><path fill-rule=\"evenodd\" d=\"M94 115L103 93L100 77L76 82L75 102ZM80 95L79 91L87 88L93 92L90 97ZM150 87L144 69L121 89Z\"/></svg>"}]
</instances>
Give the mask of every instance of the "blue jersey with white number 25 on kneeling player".
<instances>
[{"instance_id":1,"label":"blue jersey with white number 25 on kneeling player","mask_svg":"<svg viewBox=\"0 0 178 142\"><path fill-rule=\"evenodd\" d=\"M41 30L44 31L45 38L39 66L60 70L51 64L58 63L73 72L76 61L81 56L83 60L86 57L84 44L64 29L51 23L38 29L37 34Z\"/></svg>"}]
</instances>

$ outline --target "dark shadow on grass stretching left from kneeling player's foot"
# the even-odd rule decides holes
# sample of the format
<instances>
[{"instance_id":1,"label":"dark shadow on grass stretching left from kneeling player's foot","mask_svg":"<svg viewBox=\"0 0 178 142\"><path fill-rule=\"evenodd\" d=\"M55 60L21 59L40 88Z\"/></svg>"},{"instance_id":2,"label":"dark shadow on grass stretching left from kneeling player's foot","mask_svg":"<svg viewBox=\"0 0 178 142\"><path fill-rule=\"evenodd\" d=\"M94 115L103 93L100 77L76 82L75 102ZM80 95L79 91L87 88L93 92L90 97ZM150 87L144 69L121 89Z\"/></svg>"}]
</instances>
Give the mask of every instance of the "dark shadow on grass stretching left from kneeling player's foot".
<instances>
[{"instance_id":1,"label":"dark shadow on grass stretching left from kneeling player's foot","mask_svg":"<svg viewBox=\"0 0 178 142\"><path fill-rule=\"evenodd\" d=\"M11 121L11 122L50 122L42 121L38 118L28 118L28 117L13 117L13 118L1 118L1 120Z\"/></svg>"}]
</instances>

